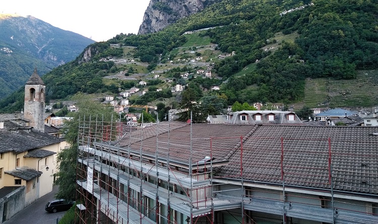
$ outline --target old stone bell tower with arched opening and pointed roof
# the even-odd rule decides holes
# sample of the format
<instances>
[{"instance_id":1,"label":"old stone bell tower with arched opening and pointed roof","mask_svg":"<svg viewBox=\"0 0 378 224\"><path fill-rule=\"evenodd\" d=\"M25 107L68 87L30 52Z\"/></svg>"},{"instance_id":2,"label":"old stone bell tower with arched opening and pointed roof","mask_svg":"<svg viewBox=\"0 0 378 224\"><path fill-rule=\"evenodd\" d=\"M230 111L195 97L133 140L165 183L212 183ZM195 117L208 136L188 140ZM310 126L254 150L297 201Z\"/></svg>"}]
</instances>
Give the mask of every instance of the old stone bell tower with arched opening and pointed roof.
<instances>
[{"instance_id":1,"label":"old stone bell tower with arched opening and pointed roof","mask_svg":"<svg viewBox=\"0 0 378 224\"><path fill-rule=\"evenodd\" d=\"M44 132L45 84L37 74L37 68L25 85L24 118L36 131Z\"/></svg>"}]
</instances>

